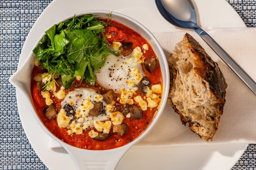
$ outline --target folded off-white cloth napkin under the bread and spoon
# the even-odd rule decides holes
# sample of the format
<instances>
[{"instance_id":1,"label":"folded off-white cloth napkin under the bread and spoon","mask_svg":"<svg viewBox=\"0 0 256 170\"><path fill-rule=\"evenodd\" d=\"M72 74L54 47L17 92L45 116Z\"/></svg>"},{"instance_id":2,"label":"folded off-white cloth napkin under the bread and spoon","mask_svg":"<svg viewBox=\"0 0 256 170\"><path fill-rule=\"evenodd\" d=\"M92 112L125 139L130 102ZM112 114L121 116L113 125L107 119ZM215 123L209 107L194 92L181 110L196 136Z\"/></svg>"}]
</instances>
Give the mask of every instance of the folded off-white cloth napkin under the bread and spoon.
<instances>
[{"instance_id":1,"label":"folded off-white cloth napkin under the bread and spoon","mask_svg":"<svg viewBox=\"0 0 256 170\"><path fill-rule=\"evenodd\" d=\"M256 28L205 29L207 33L256 81ZM217 62L228 84L226 104L220 118L219 129L212 142L204 142L188 126L169 104L154 129L137 143L139 147L198 145L206 143L256 143L256 96L229 69L213 50L195 33L190 33L203 46L213 61ZM161 32L155 37L169 56L174 46L186 33ZM50 147L61 147L51 139Z\"/></svg>"}]
</instances>

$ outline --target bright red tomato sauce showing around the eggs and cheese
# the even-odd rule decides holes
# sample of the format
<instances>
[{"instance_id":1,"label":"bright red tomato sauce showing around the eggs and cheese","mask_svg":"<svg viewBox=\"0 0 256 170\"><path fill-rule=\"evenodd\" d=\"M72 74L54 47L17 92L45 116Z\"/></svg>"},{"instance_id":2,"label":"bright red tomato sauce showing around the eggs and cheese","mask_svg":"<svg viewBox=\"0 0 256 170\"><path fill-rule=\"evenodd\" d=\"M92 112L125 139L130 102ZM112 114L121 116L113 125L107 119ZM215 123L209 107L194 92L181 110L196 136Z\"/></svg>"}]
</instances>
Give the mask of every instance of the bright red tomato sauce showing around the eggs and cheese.
<instances>
[{"instance_id":1,"label":"bright red tomato sauce showing around the eggs and cheese","mask_svg":"<svg viewBox=\"0 0 256 170\"><path fill-rule=\"evenodd\" d=\"M115 35L115 36L111 36L111 38L108 39L110 43L113 41L120 41L121 43L132 42L133 48L139 46L141 49L144 44L148 44L148 50L146 51L146 53L143 53L145 60L151 56L156 57L150 44L143 37L141 37L139 33L135 32L134 30L116 21L111 20L109 22L110 24L113 25L113 27L107 28L106 32L111 33L111 35ZM68 143L71 146L75 146L83 149L92 149L92 150L105 150L105 149L121 147L133 141L134 139L138 138L139 135L148 128L148 126L154 119L155 114L157 112L157 107L153 108L152 111L150 111L150 109L148 108L147 111L142 112L143 114L142 119L133 120L125 117L123 120L123 123L127 124L127 127L128 127L126 134L122 136L115 133L111 134L111 132L113 132L113 128L111 128L110 138L104 141L97 141L91 138L88 135L90 130L83 131L83 134L74 133L72 136L70 136L68 135L66 128L60 128L58 126L56 119L48 120L44 115L44 111L46 109L45 99L41 95L41 90L38 90L36 88L37 82L33 80L35 75L37 75L38 73L44 73L44 72L46 71L35 66L31 73L31 92L33 94L34 106L36 108L39 118L41 118L46 128L51 133L53 133L56 137L58 137L60 140ZM143 69L143 73L148 77L151 84L158 84L158 83L162 84L162 73L161 73L159 64L152 73L147 72L145 69ZM105 89L100 87L97 83L94 85L94 87L92 87L90 84L86 84L85 81L83 81L82 83L75 81L71 89L68 89L68 90L65 89L65 90L66 90L66 93L68 93L68 91L72 91L75 88L82 88L82 87L93 88L94 90L99 91L100 94L102 94L105 91ZM143 94L140 91L138 91L137 94L143 97ZM120 97L120 95L118 97ZM51 99L53 100L53 104L55 108L59 112L61 109L61 100L55 98L52 94L51 94ZM137 103L135 103L134 101L134 104L137 104Z\"/></svg>"}]
</instances>

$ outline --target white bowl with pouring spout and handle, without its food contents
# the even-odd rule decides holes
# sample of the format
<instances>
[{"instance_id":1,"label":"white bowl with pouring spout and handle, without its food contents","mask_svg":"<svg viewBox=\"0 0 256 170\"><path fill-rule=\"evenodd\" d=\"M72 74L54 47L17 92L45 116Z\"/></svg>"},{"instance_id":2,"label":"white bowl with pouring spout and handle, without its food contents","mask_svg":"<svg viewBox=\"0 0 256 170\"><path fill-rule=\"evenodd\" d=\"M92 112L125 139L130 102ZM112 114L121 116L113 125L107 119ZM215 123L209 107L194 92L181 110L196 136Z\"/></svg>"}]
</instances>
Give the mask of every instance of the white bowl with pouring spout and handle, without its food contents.
<instances>
[{"instance_id":1,"label":"white bowl with pouring spout and handle, without its food contents","mask_svg":"<svg viewBox=\"0 0 256 170\"><path fill-rule=\"evenodd\" d=\"M95 11L84 11L76 13L76 16L84 15L84 14L94 14L99 16L100 18L106 18L106 15L110 13L110 11L102 11L102 10L95 10ZM159 65L161 67L162 71L162 78L163 78L163 96L161 103L159 105L159 109L155 115L155 118L153 122L149 125L149 127L135 140L132 142L119 147L115 149L109 149L109 150L86 150L86 149L80 149L73 147L71 145L68 145L67 143L61 141L59 138L55 137L42 123L40 118L38 117L35 108L32 103L32 97L31 97L31 90L30 90L30 81L31 81L31 71L34 67L34 60L35 55L33 52L31 52L25 61L25 63L20 67L20 69L17 70L9 79L9 81L15 86L25 97L26 100L28 100L29 107L34 114L37 122L41 125L43 130L50 135L53 139L58 141L60 145L67 150L67 152L70 154L70 156L73 158L77 169L115 169L117 163L121 159L121 157L125 154L125 152L131 148L135 143L140 141L142 138L144 138L149 131L153 128L154 125L156 125L158 118L161 116L164 106L167 101L167 96L169 92L169 69L166 61L165 54L163 52L163 49L159 45L156 38L152 35L152 33L145 28L142 24L139 22L133 20L129 16L123 15L121 13L112 12L113 20L120 22L127 27L135 30L136 32L140 33L140 35L145 38L148 43L153 48L156 56L159 60ZM65 21L67 19L73 18L74 15L71 15L67 18L63 18L61 21ZM61 21L57 22L60 23ZM44 36L44 32L42 32L42 36L37 40L37 43L34 47L39 43L39 41Z\"/></svg>"}]
</instances>

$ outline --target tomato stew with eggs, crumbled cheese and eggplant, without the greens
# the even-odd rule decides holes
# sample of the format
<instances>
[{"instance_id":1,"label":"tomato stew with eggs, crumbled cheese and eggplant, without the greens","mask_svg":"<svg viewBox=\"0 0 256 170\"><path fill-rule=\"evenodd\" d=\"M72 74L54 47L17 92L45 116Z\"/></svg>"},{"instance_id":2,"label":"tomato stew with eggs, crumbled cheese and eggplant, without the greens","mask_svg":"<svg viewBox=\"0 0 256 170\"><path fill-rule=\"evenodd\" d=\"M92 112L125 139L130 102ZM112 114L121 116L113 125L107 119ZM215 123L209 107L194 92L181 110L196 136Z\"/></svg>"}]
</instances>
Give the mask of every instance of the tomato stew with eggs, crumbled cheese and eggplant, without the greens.
<instances>
[{"instance_id":1,"label":"tomato stew with eggs, crumbled cheese and eggplant, without the greens","mask_svg":"<svg viewBox=\"0 0 256 170\"><path fill-rule=\"evenodd\" d=\"M66 77L43 67L38 56L31 73L34 106L47 129L69 145L92 150L121 147L137 138L154 119L163 88L158 58L148 41L122 23L100 21L103 32L96 35L117 55L106 55L102 66L83 75L71 72L69 87L63 86ZM65 31L62 37L68 46ZM66 51L58 57L69 61ZM95 82L86 80L86 71L93 71Z\"/></svg>"}]
</instances>

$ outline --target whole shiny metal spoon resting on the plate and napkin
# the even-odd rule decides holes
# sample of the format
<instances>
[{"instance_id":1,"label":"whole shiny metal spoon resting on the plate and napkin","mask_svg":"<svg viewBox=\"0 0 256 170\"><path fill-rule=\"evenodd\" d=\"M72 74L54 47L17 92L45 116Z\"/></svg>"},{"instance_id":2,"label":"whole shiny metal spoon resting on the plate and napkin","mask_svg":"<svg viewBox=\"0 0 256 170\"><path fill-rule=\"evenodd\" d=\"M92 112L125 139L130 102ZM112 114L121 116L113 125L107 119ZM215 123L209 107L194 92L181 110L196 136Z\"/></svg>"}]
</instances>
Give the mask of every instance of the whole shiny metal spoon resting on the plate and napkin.
<instances>
[{"instance_id":1,"label":"whole shiny metal spoon resting on the plate and napkin","mask_svg":"<svg viewBox=\"0 0 256 170\"><path fill-rule=\"evenodd\" d=\"M214 41L203 29L197 25L196 11L191 0L155 0L161 15L176 27L191 29L214 50L230 69L249 87L256 95L256 83L253 79L231 58L224 49Z\"/></svg>"}]
</instances>

